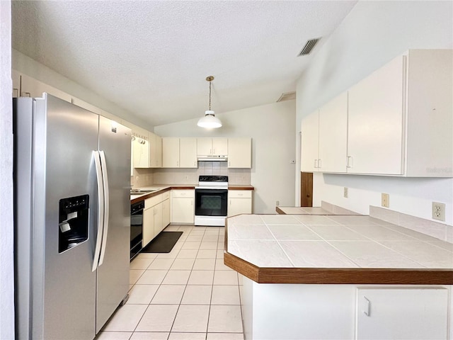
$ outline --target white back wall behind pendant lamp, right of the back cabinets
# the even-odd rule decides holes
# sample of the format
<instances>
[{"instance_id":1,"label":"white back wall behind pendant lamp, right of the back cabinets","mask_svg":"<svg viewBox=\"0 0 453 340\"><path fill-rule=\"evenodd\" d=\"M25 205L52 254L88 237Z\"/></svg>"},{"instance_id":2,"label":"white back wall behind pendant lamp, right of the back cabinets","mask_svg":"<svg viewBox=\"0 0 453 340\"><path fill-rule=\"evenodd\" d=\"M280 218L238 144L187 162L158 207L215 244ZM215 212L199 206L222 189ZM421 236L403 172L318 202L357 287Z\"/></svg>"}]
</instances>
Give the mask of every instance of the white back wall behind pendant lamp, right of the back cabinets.
<instances>
[{"instance_id":1,"label":"white back wall behind pendant lamp, right of the back cabinets","mask_svg":"<svg viewBox=\"0 0 453 340\"><path fill-rule=\"evenodd\" d=\"M215 109L215 107L214 107ZM200 118L204 112L200 112ZM295 101L283 101L254 108L216 114L222 128L197 127L197 119L159 125L154 128L163 137L252 137L251 185L253 212L275 213L275 201L294 205Z\"/></svg>"}]
</instances>

